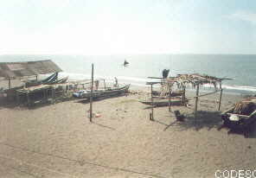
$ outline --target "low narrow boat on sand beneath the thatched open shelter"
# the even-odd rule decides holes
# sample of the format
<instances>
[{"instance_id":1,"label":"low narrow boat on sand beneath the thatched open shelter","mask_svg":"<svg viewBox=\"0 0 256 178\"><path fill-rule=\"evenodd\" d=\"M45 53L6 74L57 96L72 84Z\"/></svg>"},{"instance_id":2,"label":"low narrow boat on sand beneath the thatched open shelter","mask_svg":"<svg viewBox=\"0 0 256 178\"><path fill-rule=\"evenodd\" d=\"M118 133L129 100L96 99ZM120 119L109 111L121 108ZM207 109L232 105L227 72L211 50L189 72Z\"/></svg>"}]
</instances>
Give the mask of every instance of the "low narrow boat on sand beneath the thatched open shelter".
<instances>
[{"instance_id":1,"label":"low narrow boat on sand beneath the thatched open shelter","mask_svg":"<svg viewBox=\"0 0 256 178\"><path fill-rule=\"evenodd\" d=\"M151 105L151 100L138 100L139 102L143 103L144 105ZM186 99L188 102L188 99ZM168 106L169 99L154 99L153 105L155 106ZM182 105L182 101L180 98L170 99L170 105Z\"/></svg>"}]
</instances>

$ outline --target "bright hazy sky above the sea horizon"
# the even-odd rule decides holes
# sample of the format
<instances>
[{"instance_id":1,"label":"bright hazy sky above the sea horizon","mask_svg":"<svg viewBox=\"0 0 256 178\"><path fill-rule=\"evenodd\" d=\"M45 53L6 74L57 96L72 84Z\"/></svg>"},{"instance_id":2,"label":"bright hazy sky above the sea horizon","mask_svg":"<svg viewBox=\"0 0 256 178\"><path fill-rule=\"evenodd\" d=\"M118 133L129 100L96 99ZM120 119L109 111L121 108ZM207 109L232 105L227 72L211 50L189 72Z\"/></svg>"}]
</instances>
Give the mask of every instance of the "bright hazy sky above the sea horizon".
<instances>
[{"instance_id":1,"label":"bright hazy sky above the sea horizon","mask_svg":"<svg viewBox=\"0 0 256 178\"><path fill-rule=\"evenodd\" d=\"M254 0L8 0L0 54L256 54Z\"/></svg>"}]
</instances>

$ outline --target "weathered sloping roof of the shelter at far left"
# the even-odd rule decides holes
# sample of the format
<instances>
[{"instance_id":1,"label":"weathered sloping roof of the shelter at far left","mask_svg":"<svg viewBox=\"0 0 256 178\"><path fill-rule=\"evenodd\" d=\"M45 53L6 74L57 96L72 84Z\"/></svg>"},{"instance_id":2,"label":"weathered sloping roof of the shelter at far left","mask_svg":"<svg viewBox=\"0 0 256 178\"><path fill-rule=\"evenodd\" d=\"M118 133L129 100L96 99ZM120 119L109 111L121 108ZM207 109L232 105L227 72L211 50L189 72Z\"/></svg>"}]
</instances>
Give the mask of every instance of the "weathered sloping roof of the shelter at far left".
<instances>
[{"instance_id":1,"label":"weathered sloping roof of the shelter at far left","mask_svg":"<svg viewBox=\"0 0 256 178\"><path fill-rule=\"evenodd\" d=\"M0 62L0 78L21 79L38 74L59 73L61 68L52 60Z\"/></svg>"}]
</instances>

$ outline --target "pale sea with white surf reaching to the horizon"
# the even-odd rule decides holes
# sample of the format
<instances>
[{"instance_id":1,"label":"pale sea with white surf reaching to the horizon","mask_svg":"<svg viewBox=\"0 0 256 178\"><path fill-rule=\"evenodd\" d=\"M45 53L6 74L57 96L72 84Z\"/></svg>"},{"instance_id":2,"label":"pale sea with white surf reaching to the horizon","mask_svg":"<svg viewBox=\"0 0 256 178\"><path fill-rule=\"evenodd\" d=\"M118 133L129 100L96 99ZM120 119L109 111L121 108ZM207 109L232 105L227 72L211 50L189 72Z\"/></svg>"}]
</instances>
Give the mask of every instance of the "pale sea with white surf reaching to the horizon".
<instances>
[{"instance_id":1,"label":"pale sea with white surf reaching to the horizon","mask_svg":"<svg viewBox=\"0 0 256 178\"><path fill-rule=\"evenodd\" d=\"M225 80L227 92L256 93L256 54L126 54L126 55L0 55L0 62L53 60L70 79L90 79L91 65L97 78L145 86L147 77L161 77L164 68L170 75L202 73ZM130 62L123 67L124 60Z\"/></svg>"}]
</instances>

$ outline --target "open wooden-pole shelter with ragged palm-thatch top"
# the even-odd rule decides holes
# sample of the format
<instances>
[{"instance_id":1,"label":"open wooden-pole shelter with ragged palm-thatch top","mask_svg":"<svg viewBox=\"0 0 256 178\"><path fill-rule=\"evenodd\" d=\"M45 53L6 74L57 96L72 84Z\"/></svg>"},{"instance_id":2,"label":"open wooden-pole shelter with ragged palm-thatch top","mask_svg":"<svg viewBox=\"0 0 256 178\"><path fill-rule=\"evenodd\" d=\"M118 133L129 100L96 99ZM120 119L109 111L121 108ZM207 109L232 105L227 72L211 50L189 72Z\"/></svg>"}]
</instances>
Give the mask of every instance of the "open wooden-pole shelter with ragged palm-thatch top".
<instances>
[{"instance_id":1,"label":"open wooden-pole shelter with ragged palm-thatch top","mask_svg":"<svg viewBox=\"0 0 256 178\"><path fill-rule=\"evenodd\" d=\"M228 79L228 78L216 78L213 76L208 76L208 75L202 75L202 74L198 74L198 73L193 73L193 74L178 74L176 77L170 77L167 79L163 79L163 78L155 78L155 77L149 77L150 79L161 79L161 81L157 81L157 82L147 82L146 85L150 85L151 86L151 112L150 112L150 120L154 119L153 116L153 96L152 96L152 87L155 84L162 84L162 85L168 85L169 86L169 111L170 111L170 93L172 91L172 87L176 84L178 86L178 88L182 88L182 91L184 92L182 95L182 103L185 101L185 91L186 91L186 87L187 86L193 86L194 88L196 88L196 92L195 92L195 108L194 108L194 115L196 118L196 114L197 114L197 110L198 110L198 101L200 97L203 96L207 96L210 94L214 94L216 92L221 92L220 95L220 99L219 99L219 105L218 105L218 111L221 110L221 99L222 99L222 92L223 89L221 87L222 85L222 80L224 79ZM205 85L205 84L209 84L214 86L215 91L214 92L208 92L202 95L199 95L199 89L200 86ZM219 86L219 87L218 87ZM184 105L184 103L183 103Z\"/></svg>"}]
</instances>

